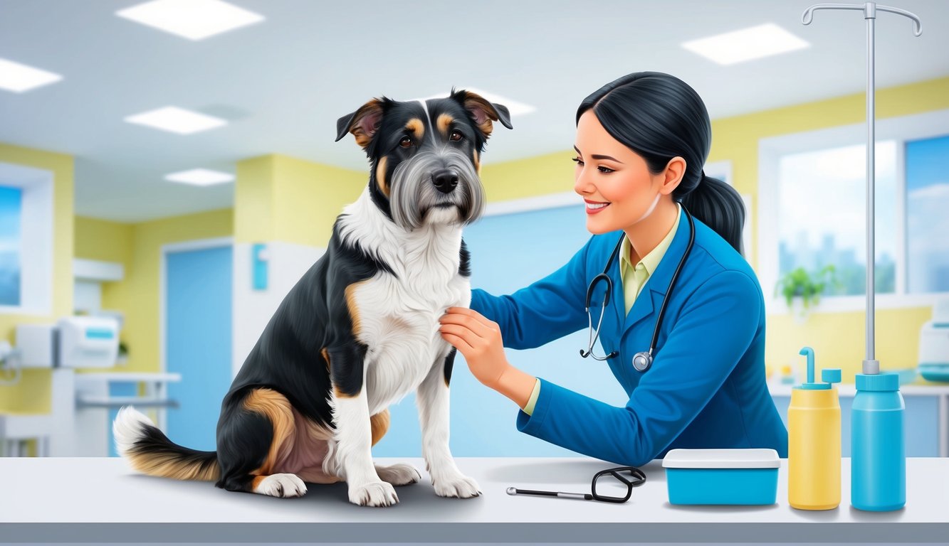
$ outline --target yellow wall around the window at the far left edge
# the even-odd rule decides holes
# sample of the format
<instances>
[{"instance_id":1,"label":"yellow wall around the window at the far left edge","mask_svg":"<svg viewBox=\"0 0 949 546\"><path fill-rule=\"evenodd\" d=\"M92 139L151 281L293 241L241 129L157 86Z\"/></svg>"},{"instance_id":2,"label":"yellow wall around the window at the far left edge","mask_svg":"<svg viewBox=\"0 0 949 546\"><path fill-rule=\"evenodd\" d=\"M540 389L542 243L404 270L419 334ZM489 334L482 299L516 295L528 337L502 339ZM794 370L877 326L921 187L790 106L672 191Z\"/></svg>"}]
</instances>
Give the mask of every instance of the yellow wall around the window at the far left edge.
<instances>
[{"instance_id":1,"label":"yellow wall around the window at the far left edge","mask_svg":"<svg viewBox=\"0 0 949 546\"><path fill-rule=\"evenodd\" d=\"M53 173L53 300L48 316L0 315L0 339L13 343L20 322L51 322L72 313L73 159L71 155L0 143L0 162ZM0 385L0 411L48 411L48 370L28 370L15 387Z\"/></svg>"}]
</instances>

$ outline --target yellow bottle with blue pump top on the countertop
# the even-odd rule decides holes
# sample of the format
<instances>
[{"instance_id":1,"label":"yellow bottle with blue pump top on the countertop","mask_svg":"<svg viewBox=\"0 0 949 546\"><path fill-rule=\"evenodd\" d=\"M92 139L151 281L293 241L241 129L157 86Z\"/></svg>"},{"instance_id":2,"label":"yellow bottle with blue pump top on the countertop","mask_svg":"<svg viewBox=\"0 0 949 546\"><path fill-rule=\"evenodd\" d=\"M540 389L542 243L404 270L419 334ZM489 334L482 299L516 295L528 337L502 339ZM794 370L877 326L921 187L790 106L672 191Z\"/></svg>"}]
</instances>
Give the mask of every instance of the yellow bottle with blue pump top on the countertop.
<instances>
[{"instance_id":1,"label":"yellow bottle with blue pump top on the countertop","mask_svg":"<svg viewBox=\"0 0 949 546\"><path fill-rule=\"evenodd\" d=\"M840 402L833 383L839 369L824 370L814 382L814 351L808 381L791 389L788 408L788 502L798 510L832 510L840 505Z\"/></svg>"}]
</instances>

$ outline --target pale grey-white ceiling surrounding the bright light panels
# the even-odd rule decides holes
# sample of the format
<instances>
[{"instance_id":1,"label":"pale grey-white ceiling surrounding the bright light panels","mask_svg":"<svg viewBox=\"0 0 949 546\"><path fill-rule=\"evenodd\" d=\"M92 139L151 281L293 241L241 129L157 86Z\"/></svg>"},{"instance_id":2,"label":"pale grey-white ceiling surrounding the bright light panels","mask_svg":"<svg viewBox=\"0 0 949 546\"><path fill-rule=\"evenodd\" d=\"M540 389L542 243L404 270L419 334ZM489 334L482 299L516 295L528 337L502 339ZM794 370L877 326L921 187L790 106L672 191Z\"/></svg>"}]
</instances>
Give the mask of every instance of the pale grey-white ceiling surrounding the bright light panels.
<instances>
[{"instance_id":1,"label":"pale grey-white ceiling surrounding the bright light panels","mask_svg":"<svg viewBox=\"0 0 949 546\"><path fill-rule=\"evenodd\" d=\"M859 11L811 0L229 0L266 17L193 42L115 15L141 0L0 0L0 58L64 76L0 90L0 142L75 156L76 214L139 222L233 205L233 184L191 187L167 173L293 155L366 169L336 119L385 95L410 100L474 86L536 107L499 128L485 163L566 151L587 94L623 74L658 70L689 82L712 118L865 89ZM949 75L949 1L892 0L876 24L878 87ZM808 41L795 52L719 66L680 46L774 23ZM166 105L229 125L179 136L123 118ZM566 163L565 163L566 164ZM314 183L318 183L314 181Z\"/></svg>"}]
</instances>

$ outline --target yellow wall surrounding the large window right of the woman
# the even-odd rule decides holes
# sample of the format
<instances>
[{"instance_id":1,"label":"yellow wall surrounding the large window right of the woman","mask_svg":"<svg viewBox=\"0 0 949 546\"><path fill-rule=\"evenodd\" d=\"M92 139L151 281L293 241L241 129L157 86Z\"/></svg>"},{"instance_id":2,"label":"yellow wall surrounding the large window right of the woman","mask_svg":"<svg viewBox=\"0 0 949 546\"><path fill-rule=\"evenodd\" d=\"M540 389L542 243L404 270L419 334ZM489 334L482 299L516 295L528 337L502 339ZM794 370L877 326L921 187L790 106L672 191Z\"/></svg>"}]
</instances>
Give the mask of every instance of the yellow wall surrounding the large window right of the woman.
<instances>
[{"instance_id":1,"label":"yellow wall surrounding the large window right of the woman","mask_svg":"<svg viewBox=\"0 0 949 546\"><path fill-rule=\"evenodd\" d=\"M878 89L878 119L920 114L949 108L949 78ZM828 127L865 122L865 95L849 95L778 108L735 118L717 119L710 161L731 160L735 189L752 195L757 204L758 140L766 137L816 131ZM949 128L947 128L949 129ZM757 218L753 215L753 249L757 248ZM756 255L751 253L752 264ZM773 286L762 286L766 297ZM931 307L878 309L876 313L876 358L884 369L915 368L922 324L932 316ZM790 361L800 363L798 352L809 345L820 367L842 368L844 381L852 382L865 357L865 315L817 313L803 324L789 315L768 317L766 363L773 369ZM798 366L800 369L800 366Z\"/></svg>"}]
</instances>

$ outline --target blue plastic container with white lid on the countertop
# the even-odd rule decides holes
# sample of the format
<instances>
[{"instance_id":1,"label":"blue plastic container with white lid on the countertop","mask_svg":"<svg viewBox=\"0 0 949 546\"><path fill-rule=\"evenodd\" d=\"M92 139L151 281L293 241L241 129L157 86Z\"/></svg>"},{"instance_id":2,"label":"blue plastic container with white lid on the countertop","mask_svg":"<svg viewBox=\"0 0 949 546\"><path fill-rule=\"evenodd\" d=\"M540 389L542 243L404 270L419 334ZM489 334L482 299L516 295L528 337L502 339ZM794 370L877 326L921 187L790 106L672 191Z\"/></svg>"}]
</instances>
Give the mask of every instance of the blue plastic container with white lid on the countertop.
<instances>
[{"instance_id":1,"label":"blue plastic container with white lid on the countertop","mask_svg":"<svg viewBox=\"0 0 949 546\"><path fill-rule=\"evenodd\" d=\"M671 504L773 504L773 449L673 449L662 459Z\"/></svg>"}]
</instances>

